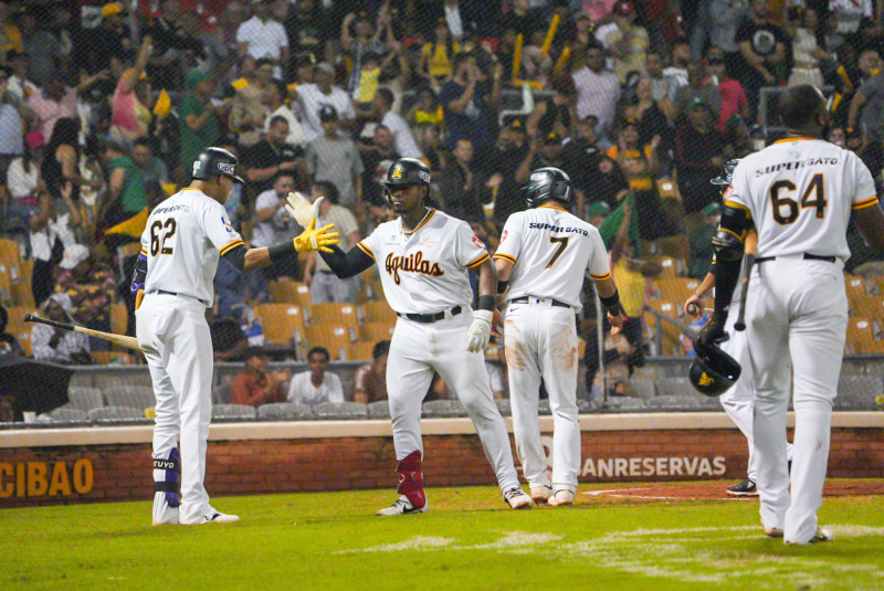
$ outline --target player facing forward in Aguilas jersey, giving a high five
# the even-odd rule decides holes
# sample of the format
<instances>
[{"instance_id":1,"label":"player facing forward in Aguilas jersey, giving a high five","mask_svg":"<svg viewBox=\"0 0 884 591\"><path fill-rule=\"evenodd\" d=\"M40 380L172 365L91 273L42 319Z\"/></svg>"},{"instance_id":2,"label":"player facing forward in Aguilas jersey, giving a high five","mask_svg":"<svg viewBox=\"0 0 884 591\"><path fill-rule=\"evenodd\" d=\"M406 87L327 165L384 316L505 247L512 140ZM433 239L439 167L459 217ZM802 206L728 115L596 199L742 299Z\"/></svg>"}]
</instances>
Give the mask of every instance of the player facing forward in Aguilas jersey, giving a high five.
<instances>
[{"instance_id":1,"label":"player facing forward in Aguilas jersey, giving a high five","mask_svg":"<svg viewBox=\"0 0 884 591\"><path fill-rule=\"evenodd\" d=\"M377 262L383 294L399 316L387 361L387 392L401 496L378 515L429 510L420 420L433 371L463 402L506 503L514 509L528 508L532 499L519 486L509 436L485 373L483 349L492 333L494 265L466 222L424 204L429 191L430 169L423 162L396 160L383 181L383 193L399 218L380 224L347 253L337 247L330 254L320 253L340 278ZM480 275L480 309L475 312L470 308L473 293L467 270Z\"/></svg>"}]
</instances>

